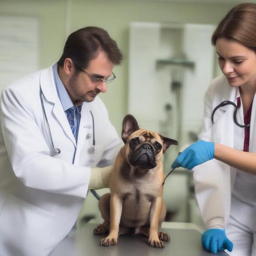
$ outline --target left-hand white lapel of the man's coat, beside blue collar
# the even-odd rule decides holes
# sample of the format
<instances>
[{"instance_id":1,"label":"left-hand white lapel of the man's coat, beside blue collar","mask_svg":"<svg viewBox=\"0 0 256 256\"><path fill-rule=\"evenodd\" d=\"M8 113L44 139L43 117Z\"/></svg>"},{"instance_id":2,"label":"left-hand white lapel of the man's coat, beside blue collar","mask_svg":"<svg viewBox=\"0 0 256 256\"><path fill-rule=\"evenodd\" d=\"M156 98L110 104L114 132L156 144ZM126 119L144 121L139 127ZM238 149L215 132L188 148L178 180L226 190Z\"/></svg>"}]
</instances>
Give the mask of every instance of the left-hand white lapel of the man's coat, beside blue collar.
<instances>
[{"instance_id":1,"label":"left-hand white lapel of the man's coat, beside blue collar","mask_svg":"<svg viewBox=\"0 0 256 256\"><path fill-rule=\"evenodd\" d=\"M64 112L64 109L61 105L61 101L58 97L55 82L53 79L52 66L46 70L42 70L41 76L40 76L40 84L41 84L42 92L44 94L45 99L48 102L51 102L53 105L52 114L58 120L59 124L63 128L67 137L69 137L70 140L72 140L72 142L76 146L75 137L71 131L69 122L67 120L67 116Z\"/></svg>"}]
</instances>

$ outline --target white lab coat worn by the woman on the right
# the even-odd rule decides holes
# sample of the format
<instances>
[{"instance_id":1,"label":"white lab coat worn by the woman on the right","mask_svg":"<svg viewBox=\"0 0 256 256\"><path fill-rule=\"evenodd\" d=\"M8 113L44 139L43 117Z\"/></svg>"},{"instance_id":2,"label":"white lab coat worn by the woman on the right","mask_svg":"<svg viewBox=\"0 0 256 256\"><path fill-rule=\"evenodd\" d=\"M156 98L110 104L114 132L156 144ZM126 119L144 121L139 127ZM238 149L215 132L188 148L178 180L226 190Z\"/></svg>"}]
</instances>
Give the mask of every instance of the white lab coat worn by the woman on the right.
<instances>
[{"instance_id":1,"label":"white lab coat worn by the woman on the right","mask_svg":"<svg viewBox=\"0 0 256 256\"><path fill-rule=\"evenodd\" d=\"M200 140L221 143L231 148L234 146L235 108L226 105L219 108L214 115L213 109L224 100L235 102L236 87L231 87L222 75L210 84L204 99L204 121ZM256 97L250 119L250 152L256 152ZM236 178L236 171L230 172L230 166L218 160L210 160L194 169L195 193L199 209L206 227L225 227L230 216L231 192Z\"/></svg>"}]
</instances>

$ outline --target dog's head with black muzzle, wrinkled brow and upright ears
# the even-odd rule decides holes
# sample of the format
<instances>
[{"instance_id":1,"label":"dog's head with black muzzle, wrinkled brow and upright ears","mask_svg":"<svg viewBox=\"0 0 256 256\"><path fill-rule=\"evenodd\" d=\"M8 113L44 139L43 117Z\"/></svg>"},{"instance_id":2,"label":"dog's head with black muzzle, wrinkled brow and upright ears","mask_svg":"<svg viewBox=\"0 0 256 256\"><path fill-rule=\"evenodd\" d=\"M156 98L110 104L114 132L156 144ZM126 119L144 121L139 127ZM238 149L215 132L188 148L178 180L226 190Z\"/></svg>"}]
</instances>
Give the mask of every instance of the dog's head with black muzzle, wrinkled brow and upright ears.
<instances>
[{"instance_id":1,"label":"dog's head with black muzzle, wrinkled brow and upright ears","mask_svg":"<svg viewBox=\"0 0 256 256\"><path fill-rule=\"evenodd\" d=\"M122 124L122 140L125 143L125 156L131 166L153 169L170 145L172 140L154 131L140 129L132 115L126 115Z\"/></svg>"}]
</instances>

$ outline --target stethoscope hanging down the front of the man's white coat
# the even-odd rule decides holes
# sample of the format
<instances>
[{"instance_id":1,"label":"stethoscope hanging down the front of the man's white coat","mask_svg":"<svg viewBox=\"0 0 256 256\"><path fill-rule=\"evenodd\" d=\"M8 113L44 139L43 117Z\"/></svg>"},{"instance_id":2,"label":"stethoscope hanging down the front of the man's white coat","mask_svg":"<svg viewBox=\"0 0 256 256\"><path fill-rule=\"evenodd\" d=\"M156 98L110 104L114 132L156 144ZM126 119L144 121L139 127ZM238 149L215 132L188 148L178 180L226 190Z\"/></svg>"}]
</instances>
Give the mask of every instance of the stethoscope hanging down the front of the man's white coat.
<instances>
[{"instance_id":1,"label":"stethoscope hanging down the front of the man's white coat","mask_svg":"<svg viewBox=\"0 0 256 256\"><path fill-rule=\"evenodd\" d=\"M47 119L47 115L44 109L44 101L43 101L43 96L42 96L43 92L42 92L42 88L41 88L41 84L40 84L40 100L41 100L41 105L42 105L42 110L44 113L44 119L47 123L47 127L48 127L48 131L49 131L49 137L51 140L51 144L52 144L52 151L51 151L51 156L54 157L57 154L61 154L61 150L59 148L55 148L54 144L53 144L53 140L52 140L52 133L51 133L51 128ZM96 145L95 145L95 131L94 131L94 118L93 118L93 113L92 111L90 111L90 114L92 116L92 120L93 120L93 145L88 149L88 153L90 154L96 154ZM91 134L87 134L86 135L86 139L89 139L91 137Z\"/></svg>"}]
</instances>

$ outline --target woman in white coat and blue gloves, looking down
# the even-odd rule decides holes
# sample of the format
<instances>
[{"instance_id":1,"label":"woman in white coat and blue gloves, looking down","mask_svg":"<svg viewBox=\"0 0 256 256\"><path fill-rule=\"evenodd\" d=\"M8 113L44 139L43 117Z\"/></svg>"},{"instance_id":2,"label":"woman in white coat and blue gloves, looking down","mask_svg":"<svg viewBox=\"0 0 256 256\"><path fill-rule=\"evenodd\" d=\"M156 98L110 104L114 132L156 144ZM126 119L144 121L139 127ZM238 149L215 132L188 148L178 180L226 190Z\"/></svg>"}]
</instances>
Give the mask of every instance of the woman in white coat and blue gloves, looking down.
<instances>
[{"instance_id":1,"label":"woman in white coat and blue gloves, looking down","mask_svg":"<svg viewBox=\"0 0 256 256\"><path fill-rule=\"evenodd\" d=\"M227 249L232 256L254 256L256 4L235 6L218 25L212 44L223 75L205 94L200 141L186 148L172 167L195 171L196 197L208 229L202 246L212 253Z\"/></svg>"}]
</instances>

